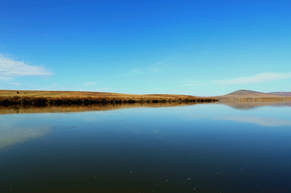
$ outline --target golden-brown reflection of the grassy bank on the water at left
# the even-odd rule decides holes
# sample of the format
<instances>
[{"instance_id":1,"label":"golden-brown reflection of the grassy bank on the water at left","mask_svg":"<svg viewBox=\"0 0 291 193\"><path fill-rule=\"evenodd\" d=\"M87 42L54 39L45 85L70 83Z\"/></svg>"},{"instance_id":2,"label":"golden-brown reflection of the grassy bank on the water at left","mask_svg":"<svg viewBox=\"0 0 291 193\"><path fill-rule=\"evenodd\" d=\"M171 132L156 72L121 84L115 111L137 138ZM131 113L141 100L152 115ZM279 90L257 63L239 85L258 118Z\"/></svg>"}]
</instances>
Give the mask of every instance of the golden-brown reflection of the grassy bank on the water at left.
<instances>
[{"instance_id":1,"label":"golden-brown reflection of the grassy bank on the water at left","mask_svg":"<svg viewBox=\"0 0 291 193\"><path fill-rule=\"evenodd\" d=\"M201 102L203 103L203 102ZM195 105L201 103L125 103L125 104L93 104L93 105L0 105L0 114L15 113L54 113L54 112L83 112L83 111L104 111L122 108L139 107L173 107L181 105ZM209 103L209 102L204 102Z\"/></svg>"}]
</instances>

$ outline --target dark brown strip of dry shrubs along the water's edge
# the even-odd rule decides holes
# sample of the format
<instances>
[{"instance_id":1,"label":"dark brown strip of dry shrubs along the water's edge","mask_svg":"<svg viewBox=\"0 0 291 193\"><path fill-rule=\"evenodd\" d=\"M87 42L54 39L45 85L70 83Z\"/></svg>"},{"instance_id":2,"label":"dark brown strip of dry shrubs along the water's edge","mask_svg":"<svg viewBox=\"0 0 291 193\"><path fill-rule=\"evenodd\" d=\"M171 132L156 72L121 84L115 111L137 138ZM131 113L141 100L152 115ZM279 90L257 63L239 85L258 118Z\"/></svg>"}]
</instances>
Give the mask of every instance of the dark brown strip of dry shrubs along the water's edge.
<instances>
[{"instance_id":1,"label":"dark brown strip of dry shrubs along the water's edge","mask_svg":"<svg viewBox=\"0 0 291 193\"><path fill-rule=\"evenodd\" d=\"M163 97L26 97L26 96L0 96L0 104L95 104L95 103L158 103L158 102L200 102L218 101L214 98L163 98Z\"/></svg>"}]
</instances>

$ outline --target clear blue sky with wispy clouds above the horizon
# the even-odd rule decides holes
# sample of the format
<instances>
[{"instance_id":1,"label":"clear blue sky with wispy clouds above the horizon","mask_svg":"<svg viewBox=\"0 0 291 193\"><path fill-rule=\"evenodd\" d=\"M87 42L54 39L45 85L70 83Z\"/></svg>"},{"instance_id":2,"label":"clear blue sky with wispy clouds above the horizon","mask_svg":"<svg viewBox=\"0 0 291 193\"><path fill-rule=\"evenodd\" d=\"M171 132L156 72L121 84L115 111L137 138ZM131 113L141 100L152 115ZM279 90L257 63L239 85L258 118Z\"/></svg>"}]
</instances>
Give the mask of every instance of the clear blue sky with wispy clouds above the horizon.
<instances>
[{"instance_id":1,"label":"clear blue sky with wispy clouds above the horizon","mask_svg":"<svg viewBox=\"0 0 291 193\"><path fill-rule=\"evenodd\" d=\"M0 1L0 89L291 91L291 1Z\"/></svg>"}]
</instances>

